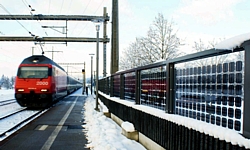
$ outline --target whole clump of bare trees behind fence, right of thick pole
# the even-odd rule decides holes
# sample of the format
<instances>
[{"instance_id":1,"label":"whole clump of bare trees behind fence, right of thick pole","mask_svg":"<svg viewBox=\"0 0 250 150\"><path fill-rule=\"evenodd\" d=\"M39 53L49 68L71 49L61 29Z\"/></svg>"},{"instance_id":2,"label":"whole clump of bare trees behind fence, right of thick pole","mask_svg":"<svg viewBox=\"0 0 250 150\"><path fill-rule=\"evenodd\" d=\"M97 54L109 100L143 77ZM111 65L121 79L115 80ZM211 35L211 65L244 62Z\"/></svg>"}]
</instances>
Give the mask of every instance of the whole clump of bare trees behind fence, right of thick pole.
<instances>
[{"instance_id":1,"label":"whole clump of bare trees behind fence, right of thick pole","mask_svg":"<svg viewBox=\"0 0 250 150\"><path fill-rule=\"evenodd\" d=\"M150 26L147 36L137 38L125 50L120 61L120 68L125 69L124 63L131 63L129 67L133 68L182 55L178 50L181 46L181 39L178 38L177 32L178 30L174 29L174 22L169 22L159 13Z\"/></svg>"}]
</instances>

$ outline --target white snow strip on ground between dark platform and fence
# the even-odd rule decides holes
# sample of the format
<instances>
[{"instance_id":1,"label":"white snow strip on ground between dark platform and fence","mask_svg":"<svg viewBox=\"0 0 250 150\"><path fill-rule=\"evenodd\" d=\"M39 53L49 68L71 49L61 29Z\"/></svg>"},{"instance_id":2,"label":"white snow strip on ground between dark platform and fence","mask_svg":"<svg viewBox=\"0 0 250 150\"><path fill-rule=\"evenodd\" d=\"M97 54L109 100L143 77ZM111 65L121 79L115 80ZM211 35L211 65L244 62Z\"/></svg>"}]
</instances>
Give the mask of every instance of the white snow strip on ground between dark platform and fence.
<instances>
[{"instance_id":1,"label":"white snow strip on ground between dark platform and fence","mask_svg":"<svg viewBox=\"0 0 250 150\"><path fill-rule=\"evenodd\" d=\"M89 96L85 103L87 145L95 150L146 150L141 144L123 136L122 129L102 112L95 111L95 99Z\"/></svg>"}]
</instances>

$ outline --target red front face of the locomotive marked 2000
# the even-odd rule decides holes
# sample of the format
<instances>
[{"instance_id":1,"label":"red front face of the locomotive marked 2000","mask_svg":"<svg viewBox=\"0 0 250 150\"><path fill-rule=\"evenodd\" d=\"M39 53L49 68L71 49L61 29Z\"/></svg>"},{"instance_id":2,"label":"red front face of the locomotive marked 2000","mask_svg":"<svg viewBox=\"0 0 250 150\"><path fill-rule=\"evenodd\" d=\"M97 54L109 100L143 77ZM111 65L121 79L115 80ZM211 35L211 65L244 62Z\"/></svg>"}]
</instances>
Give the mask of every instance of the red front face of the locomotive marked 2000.
<instances>
[{"instance_id":1,"label":"red front face of the locomotive marked 2000","mask_svg":"<svg viewBox=\"0 0 250 150\"><path fill-rule=\"evenodd\" d=\"M21 64L15 81L15 98L22 107L47 107L53 101L52 65Z\"/></svg>"}]
</instances>

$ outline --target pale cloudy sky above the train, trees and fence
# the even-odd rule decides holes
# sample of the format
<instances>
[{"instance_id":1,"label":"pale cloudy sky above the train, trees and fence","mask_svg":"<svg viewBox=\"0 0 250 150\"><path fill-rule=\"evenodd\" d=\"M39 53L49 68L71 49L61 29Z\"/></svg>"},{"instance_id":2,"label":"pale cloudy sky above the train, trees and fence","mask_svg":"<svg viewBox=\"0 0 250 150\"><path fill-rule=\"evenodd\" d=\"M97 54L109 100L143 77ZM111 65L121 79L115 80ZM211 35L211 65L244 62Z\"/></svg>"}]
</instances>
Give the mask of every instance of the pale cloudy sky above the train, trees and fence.
<instances>
[{"instance_id":1,"label":"pale cloudy sky above the train, trees and fence","mask_svg":"<svg viewBox=\"0 0 250 150\"><path fill-rule=\"evenodd\" d=\"M15 5L13 5L15 4ZM120 0L119 4L119 54L134 42L137 37L145 37L158 13L175 23L177 35L185 44L180 49L192 52L195 41L204 42L227 39L240 34L249 33L250 1L248 0ZM107 7L110 21L107 26L108 37L111 38L111 0L0 0L0 14L33 14L43 15L103 15L103 7ZM29 32L41 37L65 36L41 26L65 26L65 21L5 21L0 20L0 36L30 36ZM61 30L62 31L62 30ZM100 37L103 28L100 30ZM68 22L68 37L96 37L95 25L92 22ZM0 42L0 75L15 76L20 62L34 54L41 54L40 45L34 42ZM57 63L84 63L86 76L90 77L91 56L96 53L96 43L68 43L43 45L45 56L52 58L46 51L54 53ZM103 74L103 45L99 49L99 75ZM107 44L107 73L110 73L111 43ZM95 56L93 70L95 71ZM82 78L83 66L63 66L69 74ZM79 73L76 73L79 72Z\"/></svg>"}]
</instances>

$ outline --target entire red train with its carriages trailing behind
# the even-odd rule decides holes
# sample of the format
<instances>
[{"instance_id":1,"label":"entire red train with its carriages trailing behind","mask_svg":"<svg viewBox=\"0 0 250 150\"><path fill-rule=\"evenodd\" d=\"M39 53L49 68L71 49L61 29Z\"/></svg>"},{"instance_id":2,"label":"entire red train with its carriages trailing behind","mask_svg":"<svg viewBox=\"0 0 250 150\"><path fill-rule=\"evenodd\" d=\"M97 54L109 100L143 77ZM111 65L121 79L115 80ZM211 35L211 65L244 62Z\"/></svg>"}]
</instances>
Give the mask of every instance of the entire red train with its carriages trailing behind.
<instances>
[{"instance_id":1,"label":"entire red train with its carriages trailing behind","mask_svg":"<svg viewBox=\"0 0 250 150\"><path fill-rule=\"evenodd\" d=\"M15 98L22 107L48 107L82 87L65 70L43 55L25 58L18 67Z\"/></svg>"}]
</instances>

